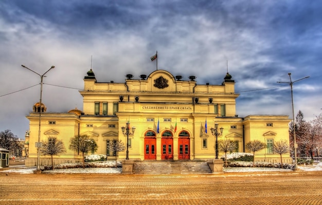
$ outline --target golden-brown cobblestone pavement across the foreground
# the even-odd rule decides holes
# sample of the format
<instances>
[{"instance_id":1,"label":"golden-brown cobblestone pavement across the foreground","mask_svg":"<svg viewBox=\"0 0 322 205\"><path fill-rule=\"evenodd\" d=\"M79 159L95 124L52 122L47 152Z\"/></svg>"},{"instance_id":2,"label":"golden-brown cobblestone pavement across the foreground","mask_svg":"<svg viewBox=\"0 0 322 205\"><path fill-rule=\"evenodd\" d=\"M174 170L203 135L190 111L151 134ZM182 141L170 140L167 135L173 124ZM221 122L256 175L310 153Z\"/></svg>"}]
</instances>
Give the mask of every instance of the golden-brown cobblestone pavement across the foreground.
<instances>
[{"instance_id":1,"label":"golden-brown cobblestone pavement across the foreground","mask_svg":"<svg viewBox=\"0 0 322 205\"><path fill-rule=\"evenodd\" d=\"M322 204L322 172L7 174L0 204Z\"/></svg>"}]
</instances>

